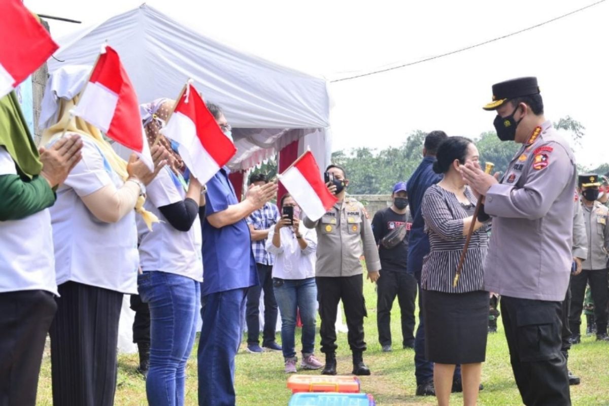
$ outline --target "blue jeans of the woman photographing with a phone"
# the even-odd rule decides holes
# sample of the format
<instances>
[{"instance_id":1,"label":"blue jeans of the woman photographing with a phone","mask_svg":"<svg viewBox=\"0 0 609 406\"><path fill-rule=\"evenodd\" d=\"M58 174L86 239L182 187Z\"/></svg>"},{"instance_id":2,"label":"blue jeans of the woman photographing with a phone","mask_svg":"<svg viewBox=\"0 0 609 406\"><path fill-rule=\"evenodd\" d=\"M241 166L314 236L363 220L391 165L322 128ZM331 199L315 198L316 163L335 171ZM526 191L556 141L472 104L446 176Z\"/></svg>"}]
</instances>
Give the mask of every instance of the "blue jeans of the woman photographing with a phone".
<instances>
[{"instance_id":1,"label":"blue jeans of the woman photographing with a phone","mask_svg":"<svg viewBox=\"0 0 609 406\"><path fill-rule=\"evenodd\" d=\"M312 354L315 349L315 313L317 312L317 284L315 278L273 278L275 299L281 313L281 346L283 357L296 356L295 332L296 309L300 309L303 322L301 342L303 354Z\"/></svg>"}]
</instances>

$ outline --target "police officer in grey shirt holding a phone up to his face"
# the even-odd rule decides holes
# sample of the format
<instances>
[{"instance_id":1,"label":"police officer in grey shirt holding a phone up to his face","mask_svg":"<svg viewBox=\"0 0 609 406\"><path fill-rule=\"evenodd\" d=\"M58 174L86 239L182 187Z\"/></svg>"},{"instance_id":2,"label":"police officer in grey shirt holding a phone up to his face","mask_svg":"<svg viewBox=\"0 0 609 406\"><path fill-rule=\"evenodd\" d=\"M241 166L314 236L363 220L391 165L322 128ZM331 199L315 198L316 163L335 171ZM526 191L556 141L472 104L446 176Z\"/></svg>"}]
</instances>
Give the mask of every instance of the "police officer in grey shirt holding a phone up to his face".
<instances>
[{"instance_id":1,"label":"police officer in grey shirt holding a phone up to his face","mask_svg":"<svg viewBox=\"0 0 609 406\"><path fill-rule=\"evenodd\" d=\"M364 341L364 317L367 315L364 303L364 280L359 258L366 259L368 279L376 282L381 270L381 261L370 220L362 203L346 197L349 184L345 170L331 165L326 169L334 176L328 188L338 198L338 202L317 221L305 216L307 228L317 231L317 264L315 281L319 315L322 320L319 334L322 337L322 352L326 354L326 365L322 374L336 375L336 315L339 300L342 299L347 317L348 341L353 353L353 374L370 375L362 352Z\"/></svg>"}]
</instances>

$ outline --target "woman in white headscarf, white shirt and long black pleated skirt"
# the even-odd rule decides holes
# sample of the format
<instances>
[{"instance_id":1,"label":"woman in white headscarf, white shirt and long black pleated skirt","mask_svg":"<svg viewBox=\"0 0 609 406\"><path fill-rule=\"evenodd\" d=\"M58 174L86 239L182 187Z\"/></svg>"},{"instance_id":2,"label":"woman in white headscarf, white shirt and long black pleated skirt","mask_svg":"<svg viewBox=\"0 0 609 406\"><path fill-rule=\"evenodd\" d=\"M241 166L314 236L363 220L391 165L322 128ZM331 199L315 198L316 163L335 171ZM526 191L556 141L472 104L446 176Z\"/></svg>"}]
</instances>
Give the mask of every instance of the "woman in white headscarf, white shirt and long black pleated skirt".
<instances>
[{"instance_id":1,"label":"woman in white headscarf, white shirt and long black pleated skirt","mask_svg":"<svg viewBox=\"0 0 609 406\"><path fill-rule=\"evenodd\" d=\"M55 71L41 113L48 118L41 122L50 125L42 145L53 145L64 132L83 141L82 160L58 187L50 209L60 295L50 331L53 404L62 406L114 402L122 296L137 292L133 209L154 220L142 208L142 195L155 174L135 154L123 161L96 127L69 114L90 71Z\"/></svg>"}]
</instances>

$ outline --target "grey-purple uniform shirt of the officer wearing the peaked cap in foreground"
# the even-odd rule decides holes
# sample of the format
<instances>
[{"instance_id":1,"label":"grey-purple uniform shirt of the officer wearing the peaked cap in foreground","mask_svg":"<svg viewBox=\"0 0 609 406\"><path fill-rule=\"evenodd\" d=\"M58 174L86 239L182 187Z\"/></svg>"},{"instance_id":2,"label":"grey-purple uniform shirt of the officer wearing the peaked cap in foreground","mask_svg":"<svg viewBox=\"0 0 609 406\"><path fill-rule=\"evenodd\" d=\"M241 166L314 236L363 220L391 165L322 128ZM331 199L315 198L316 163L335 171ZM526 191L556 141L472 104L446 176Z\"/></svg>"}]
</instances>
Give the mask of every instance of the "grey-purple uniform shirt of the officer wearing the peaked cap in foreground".
<instances>
[{"instance_id":1,"label":"grey-purple uniform shirt of the officer wearing the peaked cap in foreground","mask_svg":"<svg viewBox=\"0 0 609 406\"><path fill-rule=\"evenodd\" d=\"M575 158L544 122L488 189L493 217L485 290L505 296L563 301L572 262ZM567 215L565 215L567 214Z\"/></svg>"}]
</instances>

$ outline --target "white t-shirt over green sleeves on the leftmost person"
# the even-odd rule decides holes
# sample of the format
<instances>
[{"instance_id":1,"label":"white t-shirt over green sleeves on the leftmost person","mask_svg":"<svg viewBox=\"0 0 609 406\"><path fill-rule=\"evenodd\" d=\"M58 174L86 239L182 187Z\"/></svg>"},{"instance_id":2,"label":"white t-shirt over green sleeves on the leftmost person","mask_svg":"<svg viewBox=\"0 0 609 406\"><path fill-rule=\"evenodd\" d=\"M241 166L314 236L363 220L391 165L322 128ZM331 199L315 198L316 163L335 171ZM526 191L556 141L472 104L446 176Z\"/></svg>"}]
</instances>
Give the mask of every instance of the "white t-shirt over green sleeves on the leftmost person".
<instances>
[{"instance_id":1,"label":"white t-shirt over green sleeves on the leftmost person","mask_svg":"<svg viewBox=\"0 0 609 406\"><path fill-rule=\"evenodd\" d=\"M16 174L15 161L0 147L0 175ZM57 295L49 209L0 222L0 236L0 292L41 289Z\"/></svg>"}]
</instances>

